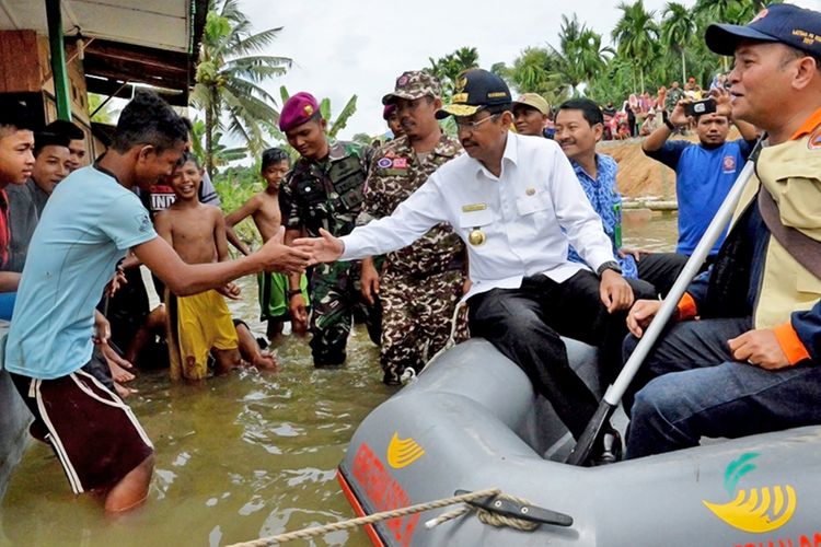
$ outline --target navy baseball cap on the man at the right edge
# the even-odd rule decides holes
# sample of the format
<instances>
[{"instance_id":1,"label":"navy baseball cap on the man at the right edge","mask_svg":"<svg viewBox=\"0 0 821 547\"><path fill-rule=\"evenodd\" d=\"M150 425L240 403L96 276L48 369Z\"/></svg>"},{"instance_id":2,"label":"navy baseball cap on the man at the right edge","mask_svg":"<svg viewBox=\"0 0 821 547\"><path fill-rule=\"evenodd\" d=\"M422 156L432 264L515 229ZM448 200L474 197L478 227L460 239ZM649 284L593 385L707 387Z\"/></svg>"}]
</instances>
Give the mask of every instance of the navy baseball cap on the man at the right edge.
<instances>
[{"instance_id":1,"label":"navy baseball cap on the man at the right edge","mask_svg":"<svg viewBox=\"0 0 821 547\"><path fill-rule=\"evenodd\" d=\"M732 55L741 40L785 44L821 57L821 13L790 3L763 9L747 25L712 24L704 36L718 55Z\"/></svg>"}]
</instances>

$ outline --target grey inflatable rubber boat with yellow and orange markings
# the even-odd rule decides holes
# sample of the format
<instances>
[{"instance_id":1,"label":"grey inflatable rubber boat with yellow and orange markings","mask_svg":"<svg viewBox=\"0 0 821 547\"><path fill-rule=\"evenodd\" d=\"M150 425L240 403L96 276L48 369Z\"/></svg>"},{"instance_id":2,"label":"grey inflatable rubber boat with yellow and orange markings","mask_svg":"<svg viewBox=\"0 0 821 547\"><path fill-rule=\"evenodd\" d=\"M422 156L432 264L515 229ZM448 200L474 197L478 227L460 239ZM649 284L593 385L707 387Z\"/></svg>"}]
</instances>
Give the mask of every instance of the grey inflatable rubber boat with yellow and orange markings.
<instances>
[{"instance_id":1,"label":"grey inflatable rubber boat with yellow and orange markings","mask_svg":"<svg viewBox=\"0 0 821 547\"><path fill-rule=\"evenodd\" d=\"M568 354L601 394L594 350L568 340ZM524 373L473 339L362 421L338 478L360 515L498 488L539 524L497 527L471 512L427 528L446 508L369 527L374 545L821 545L821 427L589 468L563 463L573 445Z\"/></svg>"}]
</instances>

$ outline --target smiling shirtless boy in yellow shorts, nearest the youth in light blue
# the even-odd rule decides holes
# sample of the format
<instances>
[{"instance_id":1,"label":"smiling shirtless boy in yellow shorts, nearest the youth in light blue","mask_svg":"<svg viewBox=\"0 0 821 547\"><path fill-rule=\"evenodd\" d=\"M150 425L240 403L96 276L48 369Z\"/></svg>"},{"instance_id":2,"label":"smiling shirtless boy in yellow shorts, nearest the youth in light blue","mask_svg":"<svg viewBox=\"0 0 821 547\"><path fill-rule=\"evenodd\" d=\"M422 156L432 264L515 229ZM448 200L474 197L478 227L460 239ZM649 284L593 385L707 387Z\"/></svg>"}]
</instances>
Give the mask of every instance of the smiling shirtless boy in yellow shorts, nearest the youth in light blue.
<instances>
[{"instance_id":1,"label":"smiling shirtless boy in yellow shorts, nearest the youth in light blue","mask_svg":"<svg viewBox=\"0 0 821 547\"><path fill-rule=\"evenodd\" d=\"M199 201L203 170L196 158L186 152L181 163L171 179L176 200L157 213L157 233L187 264L208 264L215 258L224 261L228 241L222 212ZM242 364L236 329L223 299L223 295L238 299L239 294L234 283L228 283L219 291L209 290L190 296L174 296L166 292L165 307L173 340L169 342L172 379L206 377L209 352L213 354L218 374Z\"/></svg>"}]
</instances>

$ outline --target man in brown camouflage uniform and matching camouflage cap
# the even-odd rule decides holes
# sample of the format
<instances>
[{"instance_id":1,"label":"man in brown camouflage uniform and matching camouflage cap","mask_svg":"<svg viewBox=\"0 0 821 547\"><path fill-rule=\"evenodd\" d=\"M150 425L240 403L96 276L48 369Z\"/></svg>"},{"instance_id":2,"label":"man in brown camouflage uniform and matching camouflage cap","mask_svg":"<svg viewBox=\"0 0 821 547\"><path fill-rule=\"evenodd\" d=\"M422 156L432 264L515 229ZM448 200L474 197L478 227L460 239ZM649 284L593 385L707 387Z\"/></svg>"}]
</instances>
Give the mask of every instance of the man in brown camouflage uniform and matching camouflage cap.
<instances>
[{"instance_id":1,"label":"man in brown camouflage uniform and matching camouflage cap","mask_svg":"<svg viewBox=\"0 0 821 547\"><path fill-rule=\"evenodd\" d=\"M383 104L396 105L405 136L375 152L357 224L390 216L440 165L462 153L459 141L444 135L436 120L440 94L433 75L409 71L382 98ZM372 301L378 292L382 302L380 361L385 384L398 384L408 366L419 371L444 346L465 267L464 245L447 223L389 254L381 279L372 260L362 260L362 293Z\"/></svg>"}]
</instances>

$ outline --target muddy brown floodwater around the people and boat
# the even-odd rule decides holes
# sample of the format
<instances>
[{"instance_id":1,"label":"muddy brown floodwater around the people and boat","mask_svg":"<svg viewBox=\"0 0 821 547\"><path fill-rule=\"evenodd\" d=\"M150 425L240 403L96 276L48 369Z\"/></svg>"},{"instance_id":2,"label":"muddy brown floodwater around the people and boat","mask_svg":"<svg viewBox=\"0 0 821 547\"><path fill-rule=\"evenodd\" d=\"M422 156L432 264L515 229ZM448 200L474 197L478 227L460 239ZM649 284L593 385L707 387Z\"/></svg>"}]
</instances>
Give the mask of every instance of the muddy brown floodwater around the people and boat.
<instances>
[{"instance_id":1,"label":"muddy brown floodwater around the people and boat","mask_svg":"<svg viewBox=\"0 0 821 547\"><path fill-rule=\"evenodd\" d=\"M625 211L625 246L670 251L675 234L675 216ZM255 281L242 286L233 311L264 333ZM157 468L147 505L117 523L94 499L74 498L51 451L32 442L0 505L0 545L218 546L355 516L336 466L357 424L395 391L381 383L379 351L357 327L338 370L315 370L308 346L290 336L277 356L278 373L243 371L203 386L139 373L129 404ZM294 545L370 544L354 531Z\"/></svg>"}]
</instances>

